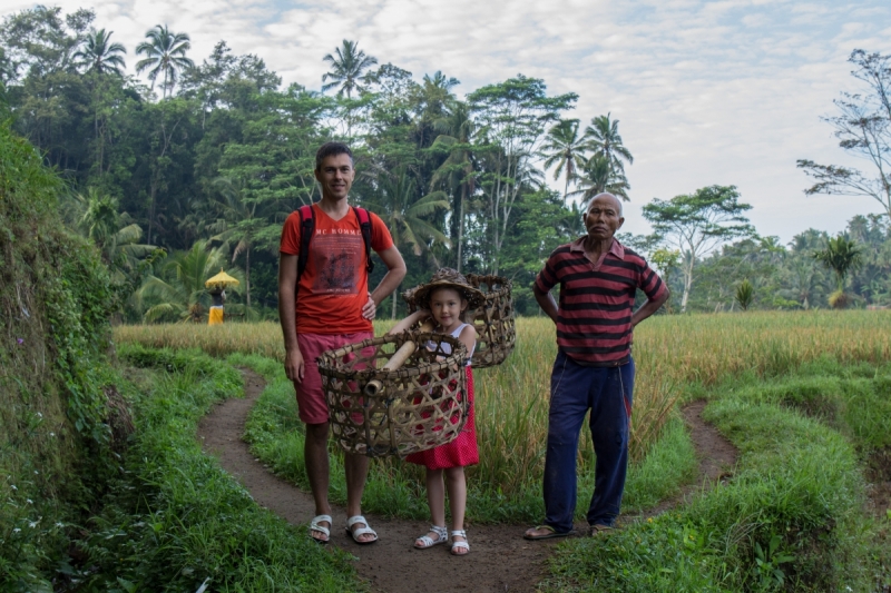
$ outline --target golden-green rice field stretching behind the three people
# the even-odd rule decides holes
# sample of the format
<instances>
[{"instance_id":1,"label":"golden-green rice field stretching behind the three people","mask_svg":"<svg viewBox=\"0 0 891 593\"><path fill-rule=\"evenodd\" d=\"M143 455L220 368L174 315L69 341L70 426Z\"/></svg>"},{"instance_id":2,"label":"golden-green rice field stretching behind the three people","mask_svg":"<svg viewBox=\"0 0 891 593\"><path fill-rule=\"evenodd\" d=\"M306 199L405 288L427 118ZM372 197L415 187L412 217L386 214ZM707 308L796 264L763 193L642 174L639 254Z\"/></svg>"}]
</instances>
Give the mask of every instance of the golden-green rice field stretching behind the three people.
<instances>
[{"instance_id":1,"label":"golden-green rice field stretching behind the three people","mask_svg":"<svg viewBox=\"0 0 891 593\"><path fill-rule=\"evenodd\" d=\"M392 322L375 322L383 334ZM214 356L257 354L283 359L277 324L118 326L114 338L153 347L200 348ZM480 466L505 492L541 471L547 437L554 325L546 317L517 322L517 348L499 367L476 372ZM631 457L639 461L691 385L708 387L741 373L776 376L829 357L841 363L891 360L891 312L794 312L657 316L635 332ZM581 471L593 462L588 439Z\"/></svg>"}]
</instances>

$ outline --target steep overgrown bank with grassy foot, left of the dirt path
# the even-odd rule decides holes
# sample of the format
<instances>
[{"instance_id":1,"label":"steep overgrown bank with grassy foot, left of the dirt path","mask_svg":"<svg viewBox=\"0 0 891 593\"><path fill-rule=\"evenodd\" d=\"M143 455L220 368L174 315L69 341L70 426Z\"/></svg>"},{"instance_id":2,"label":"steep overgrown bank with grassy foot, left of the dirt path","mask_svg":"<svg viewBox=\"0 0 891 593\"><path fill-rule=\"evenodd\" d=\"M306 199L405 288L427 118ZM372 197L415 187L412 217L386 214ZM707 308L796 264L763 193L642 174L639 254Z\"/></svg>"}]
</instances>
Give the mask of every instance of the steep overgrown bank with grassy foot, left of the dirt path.
<instances>
[{"instance_id":1,"label":"steep overgrown bank with grassy foot, left of the dirt path","mask_svg":"<svg viewBox=\"0 0 891 593\"><path fill-rule=\"evenodd\" d=\"M202 454L197 419L241 393L231 365L148 353L176 373L145 373L145 391L121 378L108 356L121 287L65 228L61 180L7 118L0 105L0 591L361 589L344 555Z\"/></svg>"}]
</instances>

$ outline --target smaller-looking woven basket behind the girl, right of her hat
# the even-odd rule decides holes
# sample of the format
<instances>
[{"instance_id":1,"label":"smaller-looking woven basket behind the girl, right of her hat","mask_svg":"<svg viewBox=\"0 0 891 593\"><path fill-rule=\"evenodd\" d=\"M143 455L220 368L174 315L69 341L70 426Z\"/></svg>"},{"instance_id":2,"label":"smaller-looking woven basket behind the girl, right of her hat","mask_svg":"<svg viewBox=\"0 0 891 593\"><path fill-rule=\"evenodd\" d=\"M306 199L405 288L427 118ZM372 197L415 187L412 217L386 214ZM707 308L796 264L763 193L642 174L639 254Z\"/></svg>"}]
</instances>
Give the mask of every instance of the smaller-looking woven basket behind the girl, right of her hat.
<instances>
[{"instance_id":1,"label":"smaller-looking woven basket behind the girl, right of her hat","mask_svg":"<svg viewBox=\"0 0 891 593\"><path fill-rule=\"evenodd\" d=\"M500 365L513 352L517 343L517 324L513 308L511 283L502 276L482 276L468 274L468 281L486 295L486 304L470 312L473 326L477 328L477 349L473 350L471 366L486 368ZM414 291L418 287L402 293L402 299L409 306L409 313L418 310Z\"/></svg>"}]
</instances>

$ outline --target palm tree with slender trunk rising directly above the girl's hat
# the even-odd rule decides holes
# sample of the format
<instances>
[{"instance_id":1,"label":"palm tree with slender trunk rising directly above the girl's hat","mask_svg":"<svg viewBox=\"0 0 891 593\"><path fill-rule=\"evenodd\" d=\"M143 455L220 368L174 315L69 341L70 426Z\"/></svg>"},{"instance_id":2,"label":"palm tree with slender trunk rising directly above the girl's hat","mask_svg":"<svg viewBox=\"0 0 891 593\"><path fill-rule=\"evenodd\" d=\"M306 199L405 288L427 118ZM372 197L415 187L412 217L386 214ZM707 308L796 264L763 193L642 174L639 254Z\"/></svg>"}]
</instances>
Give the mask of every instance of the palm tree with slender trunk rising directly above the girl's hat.
<instances>
[{"instance_id":1,"label":"palm tree with slender trunk rising directly above the girl's hat","mask_svg":"<svg viewBox=\"0 0 891 593\"><path fill-rule=\"evenodd\" d=\"M432 148L443 148L449 150L449 157L433 172L430 181L432 190L438 185L448 185L453 191L453 199L457 201L452 206L452 237L457 236L453 243L457 246L456 269L461 271L463 259L462 247L464 238L464 202L473 195L477 189L476 177L473 175L473 132L476 126L470 117L470 109L467 103L453 101L449 113L437 120L435 128L442 131L433 141ZM458 213L454 216L454 213Z\"/></svg>"}]
</instances>

